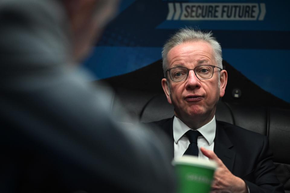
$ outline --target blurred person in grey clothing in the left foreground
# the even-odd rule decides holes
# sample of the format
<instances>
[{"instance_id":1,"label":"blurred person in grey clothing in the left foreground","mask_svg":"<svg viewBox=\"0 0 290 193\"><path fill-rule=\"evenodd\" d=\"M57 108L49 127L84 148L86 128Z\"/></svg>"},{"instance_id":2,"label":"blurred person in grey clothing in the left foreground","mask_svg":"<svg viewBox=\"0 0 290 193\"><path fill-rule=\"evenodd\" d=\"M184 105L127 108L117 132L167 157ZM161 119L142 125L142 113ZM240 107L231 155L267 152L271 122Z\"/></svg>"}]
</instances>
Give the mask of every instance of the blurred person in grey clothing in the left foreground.
<instances>
[{"instance_id":1,"label":"blurred person in grey clothing in the left foreground","mask_svg":"<svg viewBox=\"0 0 290 193\"><path fill-rule=\"evenodd\" d=\"M0 192L172 192L166 149L122 128L74 63L114 13L108 0L0 3Z\"/></svg>"}]
</instances>

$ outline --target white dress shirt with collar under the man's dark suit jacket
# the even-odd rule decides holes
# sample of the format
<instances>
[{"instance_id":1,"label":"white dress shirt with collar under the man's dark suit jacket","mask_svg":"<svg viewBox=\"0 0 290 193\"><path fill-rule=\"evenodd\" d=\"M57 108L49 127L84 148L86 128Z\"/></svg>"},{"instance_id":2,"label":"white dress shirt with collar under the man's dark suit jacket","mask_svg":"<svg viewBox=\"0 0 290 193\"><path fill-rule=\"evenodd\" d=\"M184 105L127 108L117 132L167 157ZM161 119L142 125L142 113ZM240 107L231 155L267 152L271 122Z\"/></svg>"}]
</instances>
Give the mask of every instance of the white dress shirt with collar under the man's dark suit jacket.
<instances>
[{"instance_id":1,"label":"white dress shirt with collar under the man's dark suit jacket","mask_svg":"<svg viewBox=\"0 0 290 193\"><path fill-rule=\"evenodd\" d=\"M183 123L176 116L174 117L173 119L174 159L182 157L183 153L188 148L190 142L186 137L185 133L189 130L191 130L191 128L185 125L185 123ZM208 157L202 154L200 148L204 147L208 150L212 151L214 150L215 130L216 130L215 116L209 123L197 129L197 131L199 131L202 134L202 136L199 136L197 140L199 150L198 158L204 158L208 160Z\"/></svg>"}]
</instances>

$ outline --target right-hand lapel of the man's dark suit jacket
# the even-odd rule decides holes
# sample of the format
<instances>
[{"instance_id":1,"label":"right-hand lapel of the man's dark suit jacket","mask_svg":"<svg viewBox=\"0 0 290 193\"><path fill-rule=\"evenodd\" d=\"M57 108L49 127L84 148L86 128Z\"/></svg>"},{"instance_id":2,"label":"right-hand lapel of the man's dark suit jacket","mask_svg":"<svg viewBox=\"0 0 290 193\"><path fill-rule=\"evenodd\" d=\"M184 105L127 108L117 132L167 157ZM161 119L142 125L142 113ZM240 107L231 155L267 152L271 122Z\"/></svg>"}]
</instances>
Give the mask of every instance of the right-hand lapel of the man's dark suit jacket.
<instances>
[{"instance_id":1,"label":"right-hand lapel of the man's dark suit jacket","mask_svg":"<svg viewBox=\"0 0 290 193\"><path fill-rule=\"evenodd\" d=\"M232 172L236 153L230 150L233 147L222 125L216 121L216 134L214 138L214 153L221 159L224 165Z\"/></svg>"}]
</instances>

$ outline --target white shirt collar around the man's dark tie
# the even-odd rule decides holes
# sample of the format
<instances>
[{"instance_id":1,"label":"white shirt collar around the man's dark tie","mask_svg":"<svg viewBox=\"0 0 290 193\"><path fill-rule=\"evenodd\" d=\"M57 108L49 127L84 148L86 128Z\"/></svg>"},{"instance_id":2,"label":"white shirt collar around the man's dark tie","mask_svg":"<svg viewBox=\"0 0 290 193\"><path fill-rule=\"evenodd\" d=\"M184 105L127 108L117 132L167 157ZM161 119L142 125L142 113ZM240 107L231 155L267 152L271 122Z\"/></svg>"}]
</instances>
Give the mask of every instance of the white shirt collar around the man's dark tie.
<instances>
[{"instance_id":1,"label":"white shirt collar around the man's dark tie","mask_svg":"<svg viewBox=\"0 0 290 193\"><path fill-rule=\"evenodd\" d=\"M178 143L179 139L182 138L182 136L189 130L191 130L191 128L189 128L187 125L185 125L184 122L182 122L180 119L174 116L173 138L176 144ZM205 140L208 142L208 145L211 145L214 141L215 130L216 130L215 115L210 122L197 129L197 131L199 131L205 138Z\"/></svg>"}]
</instances>

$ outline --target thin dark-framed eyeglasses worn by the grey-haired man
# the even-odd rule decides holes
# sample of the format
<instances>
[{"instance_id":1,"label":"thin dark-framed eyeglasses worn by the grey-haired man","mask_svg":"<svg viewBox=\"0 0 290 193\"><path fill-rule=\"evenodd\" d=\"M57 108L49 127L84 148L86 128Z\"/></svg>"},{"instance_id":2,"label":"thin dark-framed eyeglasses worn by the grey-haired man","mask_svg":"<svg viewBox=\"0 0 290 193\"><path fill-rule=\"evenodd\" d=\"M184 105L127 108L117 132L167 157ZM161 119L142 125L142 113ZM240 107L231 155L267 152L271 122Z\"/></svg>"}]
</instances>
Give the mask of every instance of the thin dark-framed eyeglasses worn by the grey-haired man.
<instances>
[{"instance_id":1,"label":"thin dark-framed eyeglasses worn by the grey-haired man","mask_svg":"<svg viewBox=\"0 0 290 193\"><path fill-rule=\"evenodd\" d=\"M166 70L166 78L167 78L167 71L169 71L169 76L172 81L185 81L188 77L189 71L193 70L195 73L195 76L199 80L210 79L212 75L214 74L214 68L218 68L222 70L221 68L217 66L213 66L213 65L201 65L193 69L188 69L185 67L169 68L168 70Z\"/></svg>"}]
</instances>

